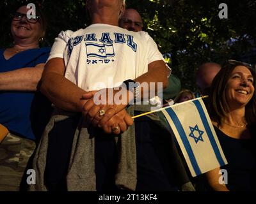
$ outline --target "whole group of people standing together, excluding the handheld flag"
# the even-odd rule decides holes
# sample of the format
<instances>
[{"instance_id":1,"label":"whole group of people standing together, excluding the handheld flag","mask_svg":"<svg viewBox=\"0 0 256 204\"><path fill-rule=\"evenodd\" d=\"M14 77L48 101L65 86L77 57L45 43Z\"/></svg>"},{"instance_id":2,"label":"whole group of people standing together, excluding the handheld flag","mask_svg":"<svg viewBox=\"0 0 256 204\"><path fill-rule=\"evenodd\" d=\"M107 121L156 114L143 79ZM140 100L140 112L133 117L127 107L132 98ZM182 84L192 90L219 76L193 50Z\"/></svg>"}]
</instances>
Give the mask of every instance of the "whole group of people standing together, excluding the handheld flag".
<instances>
[{"instance_id":1,"label":"whole group of people standing together, excluding the handheld flag","mask_svg":"<svg viewBox=\"0 0 256 204\"><path fill-rule=\"evenodd\" d=\"M51 48L40 48L47 23L38 6L33 17L26 5L11 15L13 46L0 50L0 191L254 191L252 65L205 62L199 92L182 89L138 11L124 0L86 8L92 24L61 31ZM169 106L205 95L228 164L196 180L163 115L132 117L152 99ZM28 169L33 185L24 184Z\"/></svg>"}]
</instances>

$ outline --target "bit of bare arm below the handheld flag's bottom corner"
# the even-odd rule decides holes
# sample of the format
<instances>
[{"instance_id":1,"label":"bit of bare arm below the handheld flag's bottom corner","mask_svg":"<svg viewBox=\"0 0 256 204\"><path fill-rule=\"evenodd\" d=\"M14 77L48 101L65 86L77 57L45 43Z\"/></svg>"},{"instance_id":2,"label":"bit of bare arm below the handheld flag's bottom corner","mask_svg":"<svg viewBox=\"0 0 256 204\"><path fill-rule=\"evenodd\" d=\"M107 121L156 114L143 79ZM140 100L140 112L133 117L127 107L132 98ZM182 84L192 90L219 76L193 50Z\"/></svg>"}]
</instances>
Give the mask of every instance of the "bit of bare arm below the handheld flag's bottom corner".
<instances>
[{"instance_id":1,"label":"bit of bare arm below the handheld flag's bottom corner","mask_svg":"<svg viewBox=\"0 0 256 204\"><path fill-rule=\"evenodd\" d=\"M220 168L216 168L214 170L208 171L205 173L207 182L212 187L214 191L228 191L225 184L220 184L220 180L222 175L219 174Z\"/></svg>"}]
</instances>

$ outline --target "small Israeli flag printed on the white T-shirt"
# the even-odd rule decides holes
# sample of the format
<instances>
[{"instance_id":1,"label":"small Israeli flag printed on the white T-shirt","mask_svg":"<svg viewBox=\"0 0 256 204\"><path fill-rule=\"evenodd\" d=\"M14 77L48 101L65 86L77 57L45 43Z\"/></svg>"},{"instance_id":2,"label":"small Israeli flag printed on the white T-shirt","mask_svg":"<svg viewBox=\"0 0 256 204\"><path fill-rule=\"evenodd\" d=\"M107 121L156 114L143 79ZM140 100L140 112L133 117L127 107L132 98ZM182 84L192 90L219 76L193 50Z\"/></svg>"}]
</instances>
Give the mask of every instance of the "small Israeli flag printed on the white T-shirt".
<instances>
[{"instance_id":1,"label":"small Israeli flag printed on the white T-shirt","mask_svg":"<svg viewBox=\"0 0 256 204\"><path fill-rule=\"evenodd\" d=\"M97 43L86 43L86 53L87 57L98 57L106 59L107 57L114 57L114 47L113 44L97 44Z\"/></svg>"}]
</instances>

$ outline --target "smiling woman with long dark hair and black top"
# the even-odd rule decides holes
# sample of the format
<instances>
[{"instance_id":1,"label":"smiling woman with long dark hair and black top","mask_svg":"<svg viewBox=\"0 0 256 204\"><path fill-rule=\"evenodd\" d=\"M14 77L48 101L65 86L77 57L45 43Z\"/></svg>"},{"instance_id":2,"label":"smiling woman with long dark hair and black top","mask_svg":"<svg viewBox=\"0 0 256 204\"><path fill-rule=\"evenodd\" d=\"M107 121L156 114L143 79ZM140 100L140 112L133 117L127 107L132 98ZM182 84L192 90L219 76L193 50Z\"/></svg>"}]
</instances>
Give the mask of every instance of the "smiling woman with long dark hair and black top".
<instances>
[{"instance_id":1,"label":"smiling woman with long dark hair and black top","mask_svg":"<svg viewBox=\"0 0 256 204\"><path fill-rule=\"evenodd\" d=\"M208 110L228 162L206 173L215 191L255 190L255 80L250 64L230 60L212 82Z\"/></svg>"}]
</instances>

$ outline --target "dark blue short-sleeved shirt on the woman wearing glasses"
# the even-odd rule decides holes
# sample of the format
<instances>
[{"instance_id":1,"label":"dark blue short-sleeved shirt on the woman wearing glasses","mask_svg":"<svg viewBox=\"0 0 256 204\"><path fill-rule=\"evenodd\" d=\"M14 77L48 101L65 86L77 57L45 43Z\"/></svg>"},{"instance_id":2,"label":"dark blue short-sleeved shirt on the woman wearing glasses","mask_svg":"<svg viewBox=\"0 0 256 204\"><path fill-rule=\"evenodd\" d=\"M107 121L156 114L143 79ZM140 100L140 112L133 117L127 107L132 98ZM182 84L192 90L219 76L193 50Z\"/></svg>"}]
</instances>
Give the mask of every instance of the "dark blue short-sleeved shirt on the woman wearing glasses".
<instances>
[{"instance_id":1,"label":"dark blue short-sleeved shirt on the woman wearing glasses","mask_svg":"<svg viewBox=\"0 0 256 204\"><path fill-rule=\"evenodd\" d=\"M6 60L4 49L1 49L0 73L26 67L33 69L37 64L47 61L50 50L50 47L25 50ZM0 123L10 132L32 140L35 140L35 134L31 128L30 116L34 96L34 92L0 91Z\"/></svg>"}]
</instances>

